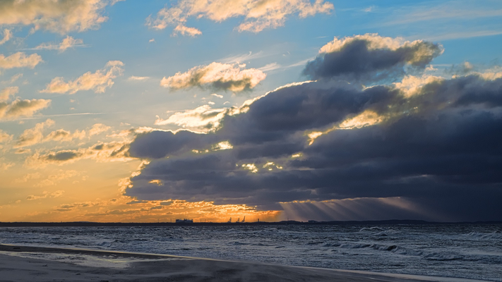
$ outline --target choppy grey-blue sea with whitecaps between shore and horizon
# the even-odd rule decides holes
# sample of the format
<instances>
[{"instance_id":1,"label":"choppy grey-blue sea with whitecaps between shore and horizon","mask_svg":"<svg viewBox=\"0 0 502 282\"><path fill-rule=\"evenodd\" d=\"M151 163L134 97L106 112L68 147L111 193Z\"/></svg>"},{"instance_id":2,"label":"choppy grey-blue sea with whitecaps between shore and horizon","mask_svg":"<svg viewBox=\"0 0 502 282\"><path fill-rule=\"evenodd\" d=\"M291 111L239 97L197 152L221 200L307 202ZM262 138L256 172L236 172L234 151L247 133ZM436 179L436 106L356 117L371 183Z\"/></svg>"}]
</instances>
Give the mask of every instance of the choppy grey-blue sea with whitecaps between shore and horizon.
<instances>
[{"instance_id":1,"label":"choppy grey-blue sea with whitecaps between shore and horizon","mask_svg":"<svg viewBox=\"0 0 502 282\"><path fill-rule=\"evenodd\" d=\"M3 227L0 243L502 281L502 224Z\"/></svg>"}]
</instances>

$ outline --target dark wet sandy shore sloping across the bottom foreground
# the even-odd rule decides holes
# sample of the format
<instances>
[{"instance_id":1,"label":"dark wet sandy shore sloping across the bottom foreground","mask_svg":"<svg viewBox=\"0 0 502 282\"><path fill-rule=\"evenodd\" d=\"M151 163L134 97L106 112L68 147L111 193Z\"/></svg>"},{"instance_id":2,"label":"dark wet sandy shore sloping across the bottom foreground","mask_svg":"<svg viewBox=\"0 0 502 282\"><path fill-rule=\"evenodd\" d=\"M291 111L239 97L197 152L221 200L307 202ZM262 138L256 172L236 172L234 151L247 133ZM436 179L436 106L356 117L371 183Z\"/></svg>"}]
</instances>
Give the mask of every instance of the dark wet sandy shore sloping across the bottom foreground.
<instances>
[{"instance_id":1,"label":"dark wet sandy shore sloping across the bottom foreground","mask_svg":"<svg viewBox=\"0 0 502 282\"><path fill-rule=\"evenodd\" d=\"M0 244L0 281L474 281Z\"/></svg>"}]
</instances>

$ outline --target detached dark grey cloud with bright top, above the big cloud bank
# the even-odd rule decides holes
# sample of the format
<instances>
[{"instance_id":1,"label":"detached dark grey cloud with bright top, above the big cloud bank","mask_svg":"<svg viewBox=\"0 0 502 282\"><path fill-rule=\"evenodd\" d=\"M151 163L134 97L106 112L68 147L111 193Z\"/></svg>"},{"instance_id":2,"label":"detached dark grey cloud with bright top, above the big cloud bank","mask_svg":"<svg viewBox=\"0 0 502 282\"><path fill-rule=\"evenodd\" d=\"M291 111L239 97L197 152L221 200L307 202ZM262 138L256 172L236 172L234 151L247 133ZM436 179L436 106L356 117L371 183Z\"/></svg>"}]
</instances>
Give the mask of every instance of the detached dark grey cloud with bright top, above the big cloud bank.
<instances>
[{"instance_id":1,"label":"detached dark grey cloud with bright top, above the big cloud bank","mask_svg":"<svg viewBox=\"0 0 502 282\"><path fill-rule=\"evenodd\" d=\"M402 38L381 37L377 34L335 37L309 61L304 75L311 79L359 80L374 82L400 78L405 67L423 69L443 53L440 44Z\"/></svg>"}]
</instances>

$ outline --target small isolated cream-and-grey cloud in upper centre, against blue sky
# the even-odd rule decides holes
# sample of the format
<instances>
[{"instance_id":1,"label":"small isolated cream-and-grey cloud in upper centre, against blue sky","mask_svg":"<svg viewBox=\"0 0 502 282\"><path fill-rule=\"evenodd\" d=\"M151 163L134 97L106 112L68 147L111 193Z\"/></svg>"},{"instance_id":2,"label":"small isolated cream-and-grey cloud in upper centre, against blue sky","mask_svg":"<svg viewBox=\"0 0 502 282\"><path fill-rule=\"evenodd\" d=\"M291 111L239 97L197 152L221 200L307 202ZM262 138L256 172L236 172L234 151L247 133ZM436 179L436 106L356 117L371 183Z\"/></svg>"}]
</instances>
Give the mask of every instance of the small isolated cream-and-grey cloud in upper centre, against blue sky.
<instances>
[{"instance_id":1,"label":"small isolated cream-and-grey cloud in upper centre, against blue sky","mask_svg":"<svg viewBox=\"0 0 502 282\"><path fill-rule=\"evenodd\" d=\"M256 68L243 69L246 65L229 63L210 63L208 66L196 66L186 73L176 73L169 78L162 78L160 85L173 90L190 87L209 87L215 90L241 92L250 90L266 75Z\"/></svg>"}]
</instances>

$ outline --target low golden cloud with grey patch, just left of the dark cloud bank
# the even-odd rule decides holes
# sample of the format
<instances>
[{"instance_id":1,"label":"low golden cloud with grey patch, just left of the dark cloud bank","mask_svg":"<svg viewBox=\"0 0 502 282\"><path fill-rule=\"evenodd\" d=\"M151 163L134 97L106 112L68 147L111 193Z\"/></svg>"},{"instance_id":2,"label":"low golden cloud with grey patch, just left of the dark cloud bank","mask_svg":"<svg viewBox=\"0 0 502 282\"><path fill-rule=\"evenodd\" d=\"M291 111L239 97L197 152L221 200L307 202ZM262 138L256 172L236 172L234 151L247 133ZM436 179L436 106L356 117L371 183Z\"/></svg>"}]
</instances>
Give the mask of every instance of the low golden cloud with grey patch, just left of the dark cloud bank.
<instances>
[{"instance_id":1,"label":"low golden cloud with grey patch, just left of the dark cloud bank","mask_svg":"<svg viewBox=\"0 0 502 282\"><path fill-rule=\"evenodd\" d=\"M49 164L70 164L81 159L95 161L130 161L135 159L129 155L129 142L99 142L88 148L67 149L56 152L36 152L26 158L25 166L29 168L43 168Z\"/></svg>"}]
</instances>

